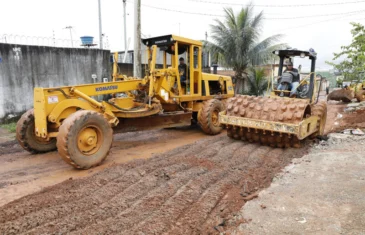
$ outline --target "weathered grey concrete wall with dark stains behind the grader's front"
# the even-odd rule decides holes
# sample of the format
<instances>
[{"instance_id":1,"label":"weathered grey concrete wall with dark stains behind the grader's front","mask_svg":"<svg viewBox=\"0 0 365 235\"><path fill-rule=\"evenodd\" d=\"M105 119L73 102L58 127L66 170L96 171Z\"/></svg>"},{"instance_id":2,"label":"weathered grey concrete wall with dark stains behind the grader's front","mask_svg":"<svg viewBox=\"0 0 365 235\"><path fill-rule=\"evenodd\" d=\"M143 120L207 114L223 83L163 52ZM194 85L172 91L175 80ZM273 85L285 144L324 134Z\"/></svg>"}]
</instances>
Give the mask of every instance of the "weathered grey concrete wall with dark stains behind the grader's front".
<instances>
[{"instance_id":1,"label":"weathered grey concrete wall with dark stains behind the grader's front","mask_svg":"<svg viewBox=\"0 0 365 235\"><path fill-rule=\"evenodd\" d=\"M107 50L0 43L0 122L33 107L34 87L102 82L110 67Z\"/></svg>"}]
</instances>

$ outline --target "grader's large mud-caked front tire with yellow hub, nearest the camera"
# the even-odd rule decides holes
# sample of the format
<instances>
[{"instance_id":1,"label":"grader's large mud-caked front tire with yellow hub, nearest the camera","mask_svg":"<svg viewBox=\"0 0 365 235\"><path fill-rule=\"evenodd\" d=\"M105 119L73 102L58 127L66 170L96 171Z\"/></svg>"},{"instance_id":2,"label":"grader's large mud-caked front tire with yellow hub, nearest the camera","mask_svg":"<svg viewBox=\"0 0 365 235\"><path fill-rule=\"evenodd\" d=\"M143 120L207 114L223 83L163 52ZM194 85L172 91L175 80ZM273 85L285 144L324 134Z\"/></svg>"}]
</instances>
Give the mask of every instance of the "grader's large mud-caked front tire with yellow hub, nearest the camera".
<instances>
[{"instance_id":1,"label":"grader's large mud-caked front tire with yellow hub, nearest the camera","mask_svg":"<svg viewBox=\"0 0 365 235\"><path fill-rule=\"evenodd\" d=\"M96 134L96 146L90 150L80 149L82 133ZM113 130L107 120L94 111L80 110L67 117L57 136L58 153L62 159L78 169L100 165L109 154L113 142Z\"/></svg>"}]
</instances>

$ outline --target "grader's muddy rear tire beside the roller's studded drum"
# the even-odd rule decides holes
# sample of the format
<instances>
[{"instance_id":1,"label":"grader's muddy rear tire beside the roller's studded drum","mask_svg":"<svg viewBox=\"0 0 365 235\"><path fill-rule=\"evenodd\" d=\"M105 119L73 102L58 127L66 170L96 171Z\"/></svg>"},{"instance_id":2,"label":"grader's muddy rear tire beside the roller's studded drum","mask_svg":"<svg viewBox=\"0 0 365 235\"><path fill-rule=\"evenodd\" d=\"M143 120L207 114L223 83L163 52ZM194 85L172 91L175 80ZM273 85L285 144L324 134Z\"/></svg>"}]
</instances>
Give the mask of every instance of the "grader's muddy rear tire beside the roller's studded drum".
<instances>
[{"instance_id":1,"label":"grader's muddy rear tire beside the roller's studded drum","mask_svg":"<svg viewBox=\"0 0 365 235\"><path fill-rule=\"evenodd\" d=\"M217 135L223 127L219 124L218 114L225 110L223 103L217 99L205 101L199 111L198 122L204 133Z\"/></svg>"}]
</instances>

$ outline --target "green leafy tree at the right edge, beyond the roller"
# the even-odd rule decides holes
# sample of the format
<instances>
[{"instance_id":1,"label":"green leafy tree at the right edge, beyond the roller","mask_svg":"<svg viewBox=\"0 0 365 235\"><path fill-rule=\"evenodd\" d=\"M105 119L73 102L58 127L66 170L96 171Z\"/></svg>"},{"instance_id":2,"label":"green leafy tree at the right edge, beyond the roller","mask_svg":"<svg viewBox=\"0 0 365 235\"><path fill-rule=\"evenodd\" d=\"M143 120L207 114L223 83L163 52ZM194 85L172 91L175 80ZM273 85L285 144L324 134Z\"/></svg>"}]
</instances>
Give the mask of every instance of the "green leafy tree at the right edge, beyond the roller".
<instances>
[{"instance_id":1,"label":"green leafy tree at the right edge, beyond the roller","mask_svg":"<svg viewBox=\"0 0 365 235\"><path fill-rule=\"evenodd\" d=\"M327 61L344 75L345 80L359 79L365 72L365 28L359 23L351 23L351 25L351 44L342 46L340 53L333 53L332 62ZM342 58L340 63L334 62Z\"/></svg>"}]
</instances>

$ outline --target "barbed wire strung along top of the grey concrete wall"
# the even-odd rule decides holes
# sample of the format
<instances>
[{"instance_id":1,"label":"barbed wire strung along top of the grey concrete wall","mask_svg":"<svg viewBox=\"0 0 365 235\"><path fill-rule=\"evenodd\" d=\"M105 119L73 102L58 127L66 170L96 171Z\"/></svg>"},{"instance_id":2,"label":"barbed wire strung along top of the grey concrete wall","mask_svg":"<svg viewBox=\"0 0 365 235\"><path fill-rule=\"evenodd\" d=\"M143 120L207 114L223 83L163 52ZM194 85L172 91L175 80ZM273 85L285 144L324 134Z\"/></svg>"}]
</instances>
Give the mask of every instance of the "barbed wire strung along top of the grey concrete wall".
<instances>
[{"instance_id":1,"label":"barbed wire strung along top of the grey concrete wall","mask_svg":"<svg viewBox=\"0 0 365 235\"><path fill-rule=\"evenodd\" d=\"M0 43L30 45L30 46L49 46L49 47L68 47L68 48L85 48L81 40L59 39L52 37L26 36L16 34L0 35ZM99 49L99 42L94 41L90 48ZM104 37L103 49L109 49L109 40Z\"/></svg>"}]
</instances>

